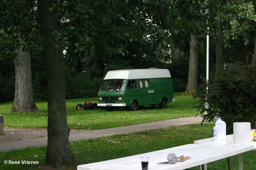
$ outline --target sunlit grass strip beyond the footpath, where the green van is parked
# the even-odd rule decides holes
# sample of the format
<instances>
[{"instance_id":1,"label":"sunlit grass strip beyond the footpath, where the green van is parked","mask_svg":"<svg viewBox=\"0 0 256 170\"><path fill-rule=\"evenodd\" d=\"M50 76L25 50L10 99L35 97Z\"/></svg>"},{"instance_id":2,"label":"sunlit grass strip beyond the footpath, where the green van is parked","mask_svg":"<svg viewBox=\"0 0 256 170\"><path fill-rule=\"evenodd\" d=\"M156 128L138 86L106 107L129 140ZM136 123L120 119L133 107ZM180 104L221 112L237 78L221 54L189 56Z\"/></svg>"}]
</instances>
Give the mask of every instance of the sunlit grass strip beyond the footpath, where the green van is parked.
<instances>
[{"instance_id":1,"label":"sunlit grass strip beyond the footpath, where the green van is parked","mask_svg":"<svg viewBox=\"0 0 256 170\"><path fill-rule=\"evenodd\" d=\"M180 117L196 116L197 110L193 109L193 103L197 102L188 96L182 96L182 92L175 93L175 102L170 102L166 109L158 106L145 106L138 111L119 109L118 111L106 111L103 109L76 110L77 104L85 101L98 102L98 98L80 98L66 101L68 127L70 129L108 129L139 123L148 123L175 119ZM5 127L12 128L47 128L47 102L36 102L42 113L25 112L10 113L12 102L0 104L0 115L4 115Z\"/></svg>"}]
</instances>

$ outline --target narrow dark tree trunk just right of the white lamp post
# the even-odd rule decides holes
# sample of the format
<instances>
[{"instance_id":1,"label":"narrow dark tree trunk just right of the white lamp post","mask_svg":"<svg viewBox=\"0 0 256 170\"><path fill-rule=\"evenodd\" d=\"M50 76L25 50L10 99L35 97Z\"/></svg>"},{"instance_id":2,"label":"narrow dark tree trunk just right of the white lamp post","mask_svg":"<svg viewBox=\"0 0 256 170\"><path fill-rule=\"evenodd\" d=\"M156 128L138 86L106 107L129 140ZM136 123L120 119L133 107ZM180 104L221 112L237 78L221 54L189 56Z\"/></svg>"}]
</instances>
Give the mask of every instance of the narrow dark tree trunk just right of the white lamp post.
<instances>
[{"instance_id":1,"label":"narrow dark tree trunk just right of the white lamp post","mask_svg":"<svg viewBox=\"0 0 256 170\"><path fill-rule=\"evenodd\" d=\"M222 49L223 49L223 33L222 23L217 23L217 37L216 37L216 73L222 70Z\"/></svg>"}]
</instances>

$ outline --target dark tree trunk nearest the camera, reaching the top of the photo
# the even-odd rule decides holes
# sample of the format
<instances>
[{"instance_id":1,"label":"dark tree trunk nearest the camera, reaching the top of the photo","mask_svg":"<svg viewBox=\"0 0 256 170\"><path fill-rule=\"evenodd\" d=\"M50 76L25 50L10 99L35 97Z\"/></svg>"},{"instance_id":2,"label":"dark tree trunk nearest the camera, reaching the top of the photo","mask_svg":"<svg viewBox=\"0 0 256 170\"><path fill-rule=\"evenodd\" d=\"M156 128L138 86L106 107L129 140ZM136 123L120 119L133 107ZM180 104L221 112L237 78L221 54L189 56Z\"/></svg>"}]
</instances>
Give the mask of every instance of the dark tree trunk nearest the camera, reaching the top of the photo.
<instances>
[{"instance_id":1,"label":"dark tree trunk nearest the camera, reaching the top of the photo","mask_svg":"<svg viewBox=\"0 0 256 170\"><path fill-rule=\"evenodd\" d=\"M48 82L48 145L46 164L68 166L75 163L69 143L69 131L65 102L65 78L62 61L62 49L57 44L52 32L58 30L54 10L54 0L38 0L38 14L44 41L47 63Z\"/></svg>"}]
</instances>

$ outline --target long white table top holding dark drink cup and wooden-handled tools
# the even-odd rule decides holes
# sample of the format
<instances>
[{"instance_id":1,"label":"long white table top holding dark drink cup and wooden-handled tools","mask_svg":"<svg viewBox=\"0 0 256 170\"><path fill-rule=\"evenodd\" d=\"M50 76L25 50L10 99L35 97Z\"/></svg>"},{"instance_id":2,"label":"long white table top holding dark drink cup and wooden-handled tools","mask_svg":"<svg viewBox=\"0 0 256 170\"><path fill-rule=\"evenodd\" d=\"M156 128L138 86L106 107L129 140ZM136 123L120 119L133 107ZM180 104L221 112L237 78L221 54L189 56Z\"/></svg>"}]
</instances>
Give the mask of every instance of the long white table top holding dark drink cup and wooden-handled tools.
<instances>
[{"instance_id":1,"label":"long white table top holding dark drink cup and wooden-handled tools","mask_svg":"<svg viewBox=\"0 0 256 170\"><path fill-rule=\"evenodd\" d=\"M79 165L77 170L141 170L140 156L149 156L148 170L184 170L254 149L252 144L188 144L124 158ZM190 156L190 160L176 164L166 162L169 153Z\"/></svg>"}]
</instances>

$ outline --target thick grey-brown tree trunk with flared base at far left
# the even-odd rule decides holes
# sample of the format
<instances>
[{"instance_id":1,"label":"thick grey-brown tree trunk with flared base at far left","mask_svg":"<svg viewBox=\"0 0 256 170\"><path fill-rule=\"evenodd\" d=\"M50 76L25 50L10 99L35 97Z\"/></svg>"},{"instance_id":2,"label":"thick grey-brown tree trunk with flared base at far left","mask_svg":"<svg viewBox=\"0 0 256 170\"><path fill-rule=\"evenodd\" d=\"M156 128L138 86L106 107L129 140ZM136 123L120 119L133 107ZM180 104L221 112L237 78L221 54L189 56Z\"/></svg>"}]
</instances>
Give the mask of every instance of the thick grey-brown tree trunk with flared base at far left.
<instances>
[{"instance_id":1,"label":"thick grey-brown tree trunk with flared base at far left","mask_svg":"<svg viewBox=\"0 0 256 170\"><path fill-rule=\"evenodd\" d=\"M25 44L25 41L22 41ZM15 96L10 112L39 111L32 90L30 53L17 49L15 66Z\"/></svg>"}]
</instances>

